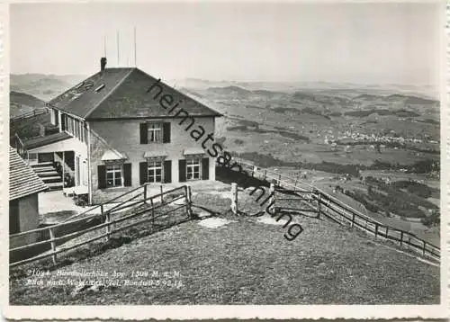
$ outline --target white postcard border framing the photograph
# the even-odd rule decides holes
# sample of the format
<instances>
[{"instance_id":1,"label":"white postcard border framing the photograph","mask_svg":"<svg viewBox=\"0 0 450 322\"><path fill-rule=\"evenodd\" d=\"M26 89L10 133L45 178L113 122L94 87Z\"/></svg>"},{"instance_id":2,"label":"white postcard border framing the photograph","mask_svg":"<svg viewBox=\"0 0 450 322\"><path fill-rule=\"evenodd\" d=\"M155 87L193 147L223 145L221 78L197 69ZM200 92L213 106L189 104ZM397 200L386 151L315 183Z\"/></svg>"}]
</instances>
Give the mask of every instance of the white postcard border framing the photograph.
<instances>
[{"instance_id":1,"label":"white postcard border framing the photograph","mask_svg":"<svg viewBox=\"0 0 450 322\"><path fill-rule=\"evenodd\" d=\"M311 1L310 1L311 2ZM320 1L323 2L323 1ZM327 1L329 2L329 1ZM360 1L364 2L364 1ZM388 1L383 1L388 2ZM402 1L405 2L405 1ZM429 1L427 1L429 2ZM445 1L440 1L443 9ZM9 306L8 238L2 238L0 250L2 315L5 318L32 320L61 318L122 318L122 319L203 319L203 318L448 318L448 237L449 237L449 166L450 166L450 111L448 109L450 80L450 49L447 53L447 33L450 32L450 5L443 10L441 82L441 304L440 305L229 305L229 306ZM0 213L8 208L8 139L9 138L9 8L0 4L0 122L2 150L0 153ZM449 21L449 22L447 22ZM447 22L447 23L446 23ZM449 24L449 25L447 25ZM444 31L444 25L446 31ZM7 236L7 217L0 219L0 232Z\"/></svg>"}]
</instances>

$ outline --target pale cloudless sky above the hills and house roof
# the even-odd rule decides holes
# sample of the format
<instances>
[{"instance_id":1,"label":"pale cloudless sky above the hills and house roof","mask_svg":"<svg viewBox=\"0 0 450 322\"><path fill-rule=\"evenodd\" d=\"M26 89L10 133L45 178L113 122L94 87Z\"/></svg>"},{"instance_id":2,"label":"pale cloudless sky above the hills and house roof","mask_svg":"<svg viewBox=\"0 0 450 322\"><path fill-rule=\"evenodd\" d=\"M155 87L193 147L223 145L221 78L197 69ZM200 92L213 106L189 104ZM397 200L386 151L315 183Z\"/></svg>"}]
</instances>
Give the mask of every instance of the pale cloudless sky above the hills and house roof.
<instances>
[{"instance_id":1,"label":"pale cloudless sky above the hills and house roof","mask_svg":"<svg viewBox=\"0 0 450 322\"><path fill-rule=\"evenodd\" d=\"M137 67L162 79L433 85L439 17L437 3L12 4L11 73L92 75L105 48L107 67L134 67L136 27Z\"/></svg>"}]
</instances>

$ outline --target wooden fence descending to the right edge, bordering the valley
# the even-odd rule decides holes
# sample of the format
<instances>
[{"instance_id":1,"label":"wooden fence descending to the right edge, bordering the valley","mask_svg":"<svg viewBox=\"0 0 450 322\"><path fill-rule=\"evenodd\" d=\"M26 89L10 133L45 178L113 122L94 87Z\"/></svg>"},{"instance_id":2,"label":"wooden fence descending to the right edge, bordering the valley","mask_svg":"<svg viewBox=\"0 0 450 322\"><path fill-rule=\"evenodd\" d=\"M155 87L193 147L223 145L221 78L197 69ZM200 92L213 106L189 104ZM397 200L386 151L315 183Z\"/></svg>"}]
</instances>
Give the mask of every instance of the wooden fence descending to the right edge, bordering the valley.
<instances>
[{"instance_id":1,"label":"wooden fence descending to the right edge, bordering the valley","mask_svg":"<svg viewBox=\"0 0 450 322\"><path fill-rule=\"evenodd\" d=\"M243 171L246 171L252 177L275 183L278 192L293 192L297 195L299 201L308 201L311 204L310 208L299 211L315 211L318 216L324 215L341 225L361 229L368 234L374 235L376 238L391 240L419 255L440 260L440 248L438 246L432 245L408 231L393 228L372 219L311 184L303 183L286 174L279 174L275 171L258 167L246 160L237 159L236 162ZM233 170L238 171L238 168L234 167ZM277 198L275 198L275 208L276 200ZM283 210L283 208L280 210Z\"/></svg>"}]
</instances>

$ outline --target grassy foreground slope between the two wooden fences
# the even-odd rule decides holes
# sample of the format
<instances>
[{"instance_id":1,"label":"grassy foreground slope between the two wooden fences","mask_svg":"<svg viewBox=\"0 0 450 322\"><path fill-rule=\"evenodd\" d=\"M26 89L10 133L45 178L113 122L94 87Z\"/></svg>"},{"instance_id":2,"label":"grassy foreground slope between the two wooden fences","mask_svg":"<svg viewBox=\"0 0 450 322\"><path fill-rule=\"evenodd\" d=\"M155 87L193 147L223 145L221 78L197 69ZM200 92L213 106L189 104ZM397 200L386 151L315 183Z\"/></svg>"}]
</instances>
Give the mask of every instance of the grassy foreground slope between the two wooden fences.
<instances>
[{"instance_id":1,"label":"grassy foreground slope between the two wooden fences","mask_svg":"<svg viewBox=\"0 0 450 322\"><path fill-rule=\"evenodd\" d=\"M197 204L224 210L217 195ZM11 285L14 304L431 304L439 301L435 266L325 220L298 217L294 241L282 226L257 219L216 229L197 221L157 232L67 266L67 271L178 271L183 286L119 286L70 295L73 286ZM55 276L55 272L50 276ZM46 277L49 279L49 277ZM149 278L148 278L149 279ZM148 280L147 279L147 280ZM133 281L139 281L134 279Z\"/></svg>"}]
</instances>

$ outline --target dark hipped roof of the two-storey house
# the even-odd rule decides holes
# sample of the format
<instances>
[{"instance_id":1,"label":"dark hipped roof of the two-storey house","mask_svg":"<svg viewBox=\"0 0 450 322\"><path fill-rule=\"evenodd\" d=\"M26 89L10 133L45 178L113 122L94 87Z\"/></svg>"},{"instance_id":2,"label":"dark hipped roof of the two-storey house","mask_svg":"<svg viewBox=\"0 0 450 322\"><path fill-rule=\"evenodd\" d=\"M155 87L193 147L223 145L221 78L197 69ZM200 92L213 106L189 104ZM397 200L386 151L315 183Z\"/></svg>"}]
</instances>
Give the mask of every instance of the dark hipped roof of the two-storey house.
<instances>
[{"instance_id":1,"label":"dark hipped roof of the two-storey house","mask_svg":"<svg viewBox=\"0 0 450 322\"><path fill-rule=\"evenodd\" d=\"M139 68L106 68L103 73L98 72L60 94L49 105L87 120L173 117L160 106L158 99L147 93L156 82L156 78ZM221 116L175 88L162 82L159 85L164 94L174 97L174 103L182 101L178 108L183 108L190 115Z\"/></svg>"}]
</instances>

